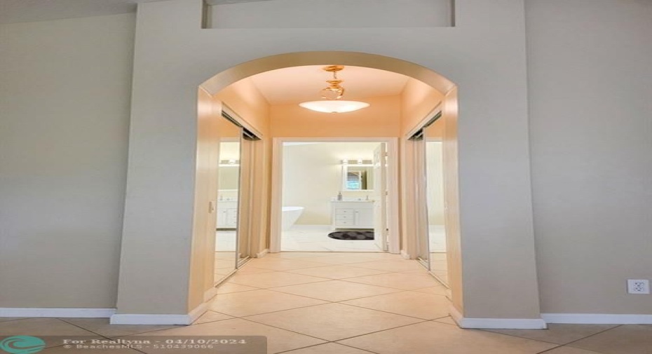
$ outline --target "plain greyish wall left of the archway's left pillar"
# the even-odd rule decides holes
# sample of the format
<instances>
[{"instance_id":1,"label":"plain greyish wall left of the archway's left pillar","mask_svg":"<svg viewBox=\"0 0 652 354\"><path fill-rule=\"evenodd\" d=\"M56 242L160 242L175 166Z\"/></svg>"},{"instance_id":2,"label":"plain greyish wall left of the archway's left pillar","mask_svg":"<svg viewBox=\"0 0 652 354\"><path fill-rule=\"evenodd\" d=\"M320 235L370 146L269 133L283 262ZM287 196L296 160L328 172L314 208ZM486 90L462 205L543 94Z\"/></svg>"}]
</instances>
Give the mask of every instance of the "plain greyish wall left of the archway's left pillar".
<instances>
[{"instance_id":1,"label":"plain greyish wall left of the archway's left pillar","mask_svg":"<svg viewBox=\"0 0 652 354\"><path fill-rule=\"evenodd\" d=\"M0 307L116 306L134 23L0 28Z\"/></svg>"}]
</instances>

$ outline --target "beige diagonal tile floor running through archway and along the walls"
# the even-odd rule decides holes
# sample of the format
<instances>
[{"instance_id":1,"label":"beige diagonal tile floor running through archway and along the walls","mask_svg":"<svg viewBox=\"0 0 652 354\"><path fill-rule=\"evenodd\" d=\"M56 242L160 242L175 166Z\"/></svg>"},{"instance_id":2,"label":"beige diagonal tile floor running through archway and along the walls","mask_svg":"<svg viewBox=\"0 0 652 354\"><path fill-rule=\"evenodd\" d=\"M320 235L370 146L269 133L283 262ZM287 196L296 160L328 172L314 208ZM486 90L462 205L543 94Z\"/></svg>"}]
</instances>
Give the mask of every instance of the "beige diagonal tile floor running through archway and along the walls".
<instances>
[{"instance_id":1,"label":"beige diagonal tile floor running through archway and along the walls","mask_svg":"<svg viewBox=\"0 0 652 354\"><path fill-rule=\"evenodd\" d=\"M0 318L0 336L264 335L269 353L287 354L652 354L652 325L459 329L444 290L416 261L393 254L285 252L241 268L190 326ZM50 344L40 353L69 351Z\"/></svg>"}]
</instances>

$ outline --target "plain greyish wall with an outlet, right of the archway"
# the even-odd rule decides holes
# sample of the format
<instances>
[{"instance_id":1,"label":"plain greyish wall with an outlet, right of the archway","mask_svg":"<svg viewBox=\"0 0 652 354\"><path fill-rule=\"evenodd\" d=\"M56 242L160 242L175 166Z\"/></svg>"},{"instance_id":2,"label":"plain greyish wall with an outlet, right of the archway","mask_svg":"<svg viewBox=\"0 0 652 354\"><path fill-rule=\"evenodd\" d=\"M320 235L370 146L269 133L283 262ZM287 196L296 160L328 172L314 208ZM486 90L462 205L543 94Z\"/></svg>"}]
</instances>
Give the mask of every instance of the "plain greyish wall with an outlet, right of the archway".
<instances>
[{"instance_id":1,"label":"plain greyish wall with an outlet, right of the archway","mask_svg":"<svg viewBox=\"0 0 652 354\"><path fill-rule=\"evenodd\" d=\"M543 312L652 313L651 35L651 1L527 1Z\"/></svg>"}]
</instances>

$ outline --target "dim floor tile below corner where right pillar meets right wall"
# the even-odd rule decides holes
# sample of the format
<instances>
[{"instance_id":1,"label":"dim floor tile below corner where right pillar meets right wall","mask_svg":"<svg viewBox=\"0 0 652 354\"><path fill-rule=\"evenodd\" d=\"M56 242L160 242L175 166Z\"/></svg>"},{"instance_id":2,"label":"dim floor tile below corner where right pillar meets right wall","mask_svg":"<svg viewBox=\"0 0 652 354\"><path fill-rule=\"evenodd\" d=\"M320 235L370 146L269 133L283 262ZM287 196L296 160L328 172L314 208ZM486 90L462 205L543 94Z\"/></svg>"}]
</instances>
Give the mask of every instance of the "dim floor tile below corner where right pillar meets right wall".
<instances>
[{"instance_id":1,"label":"dim floor tile below corner where right pillar meets right wall","mask_svg":"<svg viewBox=\"0 0 652 354\"><path fill-rule=\"evenodd\" d=\"M550 343L566 344L571 341L583 339L616 325L565 325L551 323L548 329L487 329L489 332L508 334L510 336L521 336L523 338L535 339L537 341L548 341ZM652 343L652 342L651 342Z\"/></svg>"}]
</instances>

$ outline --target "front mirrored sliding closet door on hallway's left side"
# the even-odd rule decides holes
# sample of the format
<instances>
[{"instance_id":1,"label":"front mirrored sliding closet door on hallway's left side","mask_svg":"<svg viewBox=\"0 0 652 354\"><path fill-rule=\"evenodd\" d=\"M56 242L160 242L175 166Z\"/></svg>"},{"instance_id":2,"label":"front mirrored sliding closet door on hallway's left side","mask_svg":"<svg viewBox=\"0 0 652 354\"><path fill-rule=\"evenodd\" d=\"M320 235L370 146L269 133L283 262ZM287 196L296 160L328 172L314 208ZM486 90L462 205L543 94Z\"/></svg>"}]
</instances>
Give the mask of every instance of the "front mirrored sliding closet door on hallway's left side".
<instances>
[{"instance_id":1,"label":"front mirrored sliding closet door on hallway's left side","mask_svg":"<svg viewBox=\"0 0 652 354\"><path fill-rule=\"evenodd\" d=\"M240 202L240 148L242 128L219 118L217 167L217 223L215 231L215 282L233 273L237 265Z\"/></svg>"}]
</instances>

